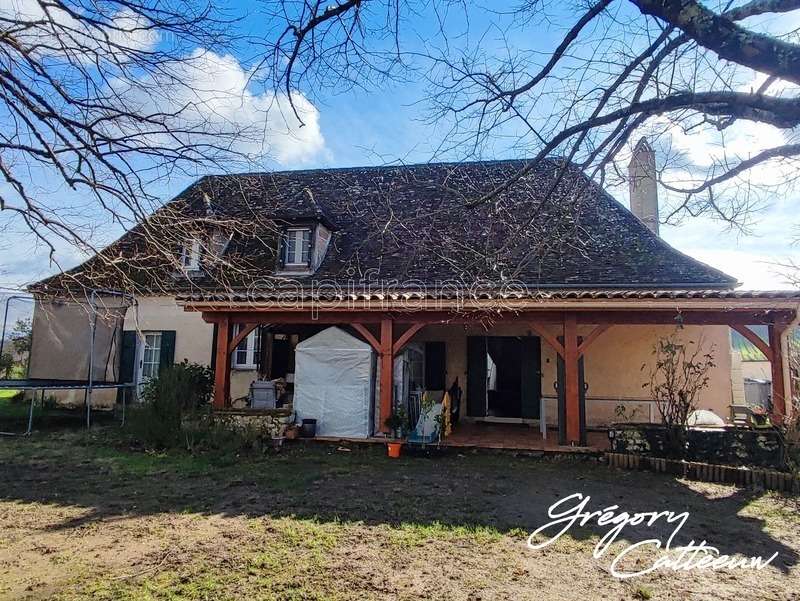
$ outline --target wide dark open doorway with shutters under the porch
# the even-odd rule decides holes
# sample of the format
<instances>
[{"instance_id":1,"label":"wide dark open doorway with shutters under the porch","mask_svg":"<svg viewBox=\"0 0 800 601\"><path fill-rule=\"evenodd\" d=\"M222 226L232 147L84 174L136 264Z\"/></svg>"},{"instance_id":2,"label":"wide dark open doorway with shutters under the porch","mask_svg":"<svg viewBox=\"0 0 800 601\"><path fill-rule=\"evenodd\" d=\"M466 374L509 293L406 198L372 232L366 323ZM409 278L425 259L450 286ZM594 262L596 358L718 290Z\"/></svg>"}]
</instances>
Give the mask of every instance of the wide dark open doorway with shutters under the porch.
<instances>
[{"instance_id":1,"label":"wide dark open doorway with shutters under the porch","mask_svg":"<svg viewBox=\"0 0 800 601\"><path fill-rule=\"evenodd\" d=\"M467 338L467 413L470 417L538 419L540 397L538 337Z\"/></svg>"}]
</instances>

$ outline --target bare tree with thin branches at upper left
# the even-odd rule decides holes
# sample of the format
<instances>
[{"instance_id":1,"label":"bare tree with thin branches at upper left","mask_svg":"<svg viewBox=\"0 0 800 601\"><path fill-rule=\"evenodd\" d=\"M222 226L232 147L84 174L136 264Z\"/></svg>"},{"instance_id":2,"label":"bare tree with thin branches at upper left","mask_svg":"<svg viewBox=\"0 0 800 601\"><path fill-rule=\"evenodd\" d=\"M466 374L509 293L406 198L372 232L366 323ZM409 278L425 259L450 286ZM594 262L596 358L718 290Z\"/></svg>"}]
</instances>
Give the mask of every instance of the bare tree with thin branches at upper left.
<instances>
[{"instance_id":1,"label":"bare tree with thin branches at upper left","mask_svg":"<svg viewBox=\"0 0 800 601\"><path fill-rule=\"evenodd\" d=\"M22 225L52 257L59 245L95 254L92 228L135 226L149 243L142 265L179 271L176 250L209 214L159 209L157 184L235 169L263 136L214 113L233 92L190 83L235 41L234 25L204 0L0 3L0 227ZM118 248L97 261L130 287Z\"/></svg>"}]
</instances>

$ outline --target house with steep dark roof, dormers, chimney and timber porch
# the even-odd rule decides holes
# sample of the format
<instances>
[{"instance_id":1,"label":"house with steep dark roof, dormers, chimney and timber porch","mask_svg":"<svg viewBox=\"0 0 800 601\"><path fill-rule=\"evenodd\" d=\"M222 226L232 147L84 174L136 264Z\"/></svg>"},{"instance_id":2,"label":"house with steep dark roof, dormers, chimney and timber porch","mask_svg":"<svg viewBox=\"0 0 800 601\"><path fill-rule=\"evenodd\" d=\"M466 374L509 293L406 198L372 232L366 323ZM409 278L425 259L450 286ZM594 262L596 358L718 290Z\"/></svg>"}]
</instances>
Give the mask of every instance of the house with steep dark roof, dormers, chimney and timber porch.
<instances>
[{"instance_id":1,"label":"house with steep dark roof, dormers, chimney and timber porch","mask_svg":"<svg viewBox=\"0 0 800 601\"><path fill-rule=\"evenodd\" d=\"M785 415L800 294L736 290L664 242L645 140L630 163L631 211L572 164L520 175L525 165L204 177L105 260L36 285L37 310L64 290L124 282L137 304L106 377L209 363L218 408L257 377L291 380L295 346L335 325L374 350L376 431L399 396L457 383L464 423L545 421L568 444L593 426L658 419L643 384L655 342L678 326L714 349L700 406L728 415L733 329L769 359L773 411ZM62 361L46 336L33 340L32 375L44 377Z\"/></svg>"}]
</instances>

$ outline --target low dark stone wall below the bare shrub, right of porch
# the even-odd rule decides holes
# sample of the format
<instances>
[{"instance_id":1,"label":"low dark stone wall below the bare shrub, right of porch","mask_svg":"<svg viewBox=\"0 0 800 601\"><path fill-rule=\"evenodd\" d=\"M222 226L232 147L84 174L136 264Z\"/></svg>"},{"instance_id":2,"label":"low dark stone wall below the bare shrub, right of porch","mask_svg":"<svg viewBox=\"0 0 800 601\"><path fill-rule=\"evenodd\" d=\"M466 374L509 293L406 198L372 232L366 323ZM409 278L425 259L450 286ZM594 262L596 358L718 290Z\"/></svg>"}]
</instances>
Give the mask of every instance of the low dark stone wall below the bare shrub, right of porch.
<instances>
[{"instance_id":1,"label":"low dark stone wall below the bare shrub, right of porch","mask_svg":"<svg viewBox=\"0 0 800 601\"><path fill-rule=\"evenodd\" d=\"M618 426L609 430L611 450L651 457L669 457L663 426ZM687 461L783 469L786 449L777 430L749 428L692 428L688 432Z\"/></svg>"}]
</instances>

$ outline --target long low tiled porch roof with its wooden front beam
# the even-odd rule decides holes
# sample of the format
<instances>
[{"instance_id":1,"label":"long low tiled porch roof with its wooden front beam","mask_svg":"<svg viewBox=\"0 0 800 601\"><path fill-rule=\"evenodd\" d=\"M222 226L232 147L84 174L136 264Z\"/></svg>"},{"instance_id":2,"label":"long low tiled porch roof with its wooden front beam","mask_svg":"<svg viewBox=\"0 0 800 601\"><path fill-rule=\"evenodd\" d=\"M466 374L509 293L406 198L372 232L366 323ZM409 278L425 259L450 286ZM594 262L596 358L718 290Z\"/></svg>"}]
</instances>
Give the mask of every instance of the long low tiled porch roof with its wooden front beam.
<instances>
[{"instance_id":1,"label":"long low tiled porch roof with its wooden front beam","mask_svg":"<svg viewBox=\"0 0 800 601\"><path fill-rule=\"evenodd\" d=\"M578 323L793 324L800 315L796 290L554 289L515 291L295 290L240 291L177 297L185 311L228 313L234 321L261 323L491 321Z\"/></svg>"}]
</instances>

